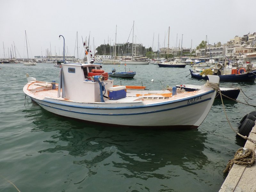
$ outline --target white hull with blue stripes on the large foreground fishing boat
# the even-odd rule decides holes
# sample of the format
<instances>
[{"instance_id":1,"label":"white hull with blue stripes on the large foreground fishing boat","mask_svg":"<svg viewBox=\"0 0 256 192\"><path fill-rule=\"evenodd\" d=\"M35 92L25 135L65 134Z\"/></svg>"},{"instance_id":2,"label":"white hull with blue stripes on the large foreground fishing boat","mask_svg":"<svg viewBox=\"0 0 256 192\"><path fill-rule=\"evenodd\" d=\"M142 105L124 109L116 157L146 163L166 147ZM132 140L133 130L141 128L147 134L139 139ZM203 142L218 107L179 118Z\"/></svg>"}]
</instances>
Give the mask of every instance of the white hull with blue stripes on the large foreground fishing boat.
<instances>
[{"instance_id":1,"label":"white hull with blue stripes on the large foreground fishing boat","mask_svg":"<svg viewBox=\"0 0 256 192\"><path fill-rule=\"evenodd\" d=\"M209 90L180 100L145 105L141 101L112 104L79 103L50 98L39 100L26 92L25 87L23 91L42 108L60 116L97 124L174 129L197 128L210 111L216 95L215 91Z\"/></svg>"}]
</instances>

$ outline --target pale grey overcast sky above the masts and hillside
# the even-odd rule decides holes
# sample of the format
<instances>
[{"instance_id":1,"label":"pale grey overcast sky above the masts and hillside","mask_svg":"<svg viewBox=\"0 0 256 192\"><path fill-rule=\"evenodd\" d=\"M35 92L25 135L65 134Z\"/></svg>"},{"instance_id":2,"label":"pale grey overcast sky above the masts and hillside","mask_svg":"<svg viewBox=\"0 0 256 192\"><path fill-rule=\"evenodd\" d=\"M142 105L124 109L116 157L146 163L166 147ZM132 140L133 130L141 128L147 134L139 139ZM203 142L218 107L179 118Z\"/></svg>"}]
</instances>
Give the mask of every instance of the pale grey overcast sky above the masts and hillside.
<instances>
[{"instance_id":1,"label":"pale grey overcast sky above the masts and hillside","mask_svg":"<svg viewBox=\"0 0 256 192\"><path fill-rule=\"evenodd\" d=\"M78 32L78 55L83 56L82 37L91 36L90 44L127 42L134 21L134 43L157 50L160 47L181 44L192 48L205 40L210 44L227 43L234 36L256 32L255 0L0 0L1 29L0 57L8 58L9 50L16 45L16 55L27 57L25 30L27 32L29 57L62 54L63 38L69 55L77 57L76 32ZM154 36L154 42L153 42ZM178 38L177 38L178 36ZM165 39L165 43L164 43ZM4 42L4 48L3 48ZM128 42L132 42L132 33ZM51 44L51 46L50 46Z\"/></svg>"}]
</instances>

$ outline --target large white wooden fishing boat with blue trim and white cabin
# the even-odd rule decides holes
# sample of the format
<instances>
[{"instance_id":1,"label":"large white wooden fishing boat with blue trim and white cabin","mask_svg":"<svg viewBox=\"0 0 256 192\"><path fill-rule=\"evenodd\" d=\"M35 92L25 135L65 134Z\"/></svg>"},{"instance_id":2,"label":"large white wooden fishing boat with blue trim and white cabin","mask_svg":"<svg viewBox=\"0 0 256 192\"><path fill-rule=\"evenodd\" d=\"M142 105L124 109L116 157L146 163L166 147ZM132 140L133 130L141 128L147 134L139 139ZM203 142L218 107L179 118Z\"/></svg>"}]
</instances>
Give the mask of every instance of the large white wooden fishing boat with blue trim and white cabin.
<instances>
[{"instance_id":1,"label":"large white wooden fishing boat with blue trim and white cabin","mask_svg":"<svg viewBox=\"0 0 256 192\"><path fill-rule=\"evenodd\" d=\"M89 52L86 48L86 53ZM54 114L113 126L148 128L197 128L212 107L212 87L194 92L126 90L100 66L62 63L59 84L28 76L23 91L42 108ZM208 76L218 84L218 76Z\"/></svg>"}]
</instances>

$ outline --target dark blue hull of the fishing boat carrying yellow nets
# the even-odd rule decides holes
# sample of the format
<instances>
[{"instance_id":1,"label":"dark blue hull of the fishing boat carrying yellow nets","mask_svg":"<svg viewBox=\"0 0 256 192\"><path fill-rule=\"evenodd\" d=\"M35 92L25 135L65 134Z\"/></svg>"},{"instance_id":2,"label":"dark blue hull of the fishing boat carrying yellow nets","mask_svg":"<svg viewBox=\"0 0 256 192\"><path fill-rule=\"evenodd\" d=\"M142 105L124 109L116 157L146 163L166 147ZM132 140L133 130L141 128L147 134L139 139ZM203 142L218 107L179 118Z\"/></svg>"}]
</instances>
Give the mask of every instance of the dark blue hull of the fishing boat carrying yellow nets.
<instances>
[{"instance_id":1,"label":"dark blue hull of the fishing boat carrying yellow nets","mask_svg":"<svg viewBox=\"0 0 256 192\"><path fill-rule=\"evenodd\" d=\"M208 76L201 76L200 73L195 73L193 70L189 69L191 77L196 79L204 79L208 80ZM249 73L243 73L243 74L232 74L232 75L219 75L220 81L234 81L234 82L241 82L241 81L249 81L253 82L256 78L256 71L249 72Z\"/></svg>"}]
</instances>

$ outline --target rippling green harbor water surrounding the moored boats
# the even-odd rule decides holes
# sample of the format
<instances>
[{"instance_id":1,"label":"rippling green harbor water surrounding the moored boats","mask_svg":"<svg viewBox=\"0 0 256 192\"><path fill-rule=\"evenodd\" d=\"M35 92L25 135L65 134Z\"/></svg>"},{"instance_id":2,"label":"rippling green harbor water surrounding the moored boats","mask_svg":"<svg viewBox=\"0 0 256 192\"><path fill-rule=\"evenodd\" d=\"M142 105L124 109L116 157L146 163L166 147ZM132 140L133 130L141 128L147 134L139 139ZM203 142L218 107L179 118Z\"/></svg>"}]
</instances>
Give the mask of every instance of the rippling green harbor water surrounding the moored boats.
<instances>
[{"instance_id":1,"label":"rippling green harbor water surrounding the moored boats","mask_svg":"<svg viewBox=\"0 0 256 192\"><path fill-rule=\"evenodd\" d=\"M106 72L125 70L124 65L102 67ZM228 160L245 143L230 128L220 100L198 129L108 127L54 115L25 98L26 73L39 81L59 82L60 68L52 63L0 68L0 192L215 192L225 180ZM149 90L205 83L192 79L188 69L129 65L126 70L137 73L133 79L113 79L115 85L142 84ZM237 100L256 103L254 82L221 82L220 87L239 87L252 100L243 92ZM231 100L224 104L235 129L244 115L255 111Z\"/></svg>"}]
</instances>

